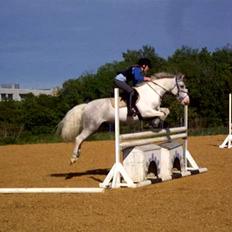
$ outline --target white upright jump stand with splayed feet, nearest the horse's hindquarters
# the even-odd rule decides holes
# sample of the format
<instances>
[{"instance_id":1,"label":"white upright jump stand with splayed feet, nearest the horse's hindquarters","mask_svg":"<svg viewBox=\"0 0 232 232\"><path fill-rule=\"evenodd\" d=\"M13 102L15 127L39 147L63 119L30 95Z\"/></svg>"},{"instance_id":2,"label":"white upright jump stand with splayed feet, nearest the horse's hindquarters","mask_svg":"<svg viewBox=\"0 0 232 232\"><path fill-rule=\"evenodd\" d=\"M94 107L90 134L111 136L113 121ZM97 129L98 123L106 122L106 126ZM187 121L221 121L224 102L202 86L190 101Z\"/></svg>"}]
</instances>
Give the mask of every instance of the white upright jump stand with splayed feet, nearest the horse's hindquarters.
<instances>
[{"instance_id":1,"label":"white upright jump stand with splayed feet, nearest the horse's hindquarters","mask_svg":"<svg viewBox=\"0 0 232 232\"><path fill-rule=\"evenodd\" d=\"M136 184L129 177L125 171L123 165L120 162L120 127L119 127L119 89L114 89L114 101L115 101L115 163L110 172L106 176L103 183L100 184L102 188L120 188L136 187ZM121 177L125 182L121 182Z\"/></svg>"}]
</instances>

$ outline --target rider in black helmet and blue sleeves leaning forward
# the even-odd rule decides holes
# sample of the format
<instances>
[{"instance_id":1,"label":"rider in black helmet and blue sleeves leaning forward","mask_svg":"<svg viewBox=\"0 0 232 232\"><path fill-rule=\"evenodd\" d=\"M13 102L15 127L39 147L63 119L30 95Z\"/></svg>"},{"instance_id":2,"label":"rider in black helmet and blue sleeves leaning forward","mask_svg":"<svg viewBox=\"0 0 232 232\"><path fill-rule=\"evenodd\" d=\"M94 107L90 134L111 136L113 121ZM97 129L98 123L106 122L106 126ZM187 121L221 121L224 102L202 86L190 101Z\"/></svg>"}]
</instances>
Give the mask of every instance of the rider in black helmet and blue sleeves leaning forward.
<instances>
[{"instance_id":1,"label":"rider in black helmet and blue sleeves leaning forward","mask_svg":"<svg viewBox=\"0 0 232 232\"><path fill-rule=\"evenodd\" d=\"M150 68L151 61L148 58L141 58L136 65L132 65L126 70L118 72L118 75L115 77L115 85L126 94L128 117L135 115L135 110L132 107L133 86L143 81L151 81L150 77L144 75Z\"/></svg>"}]
</instances>

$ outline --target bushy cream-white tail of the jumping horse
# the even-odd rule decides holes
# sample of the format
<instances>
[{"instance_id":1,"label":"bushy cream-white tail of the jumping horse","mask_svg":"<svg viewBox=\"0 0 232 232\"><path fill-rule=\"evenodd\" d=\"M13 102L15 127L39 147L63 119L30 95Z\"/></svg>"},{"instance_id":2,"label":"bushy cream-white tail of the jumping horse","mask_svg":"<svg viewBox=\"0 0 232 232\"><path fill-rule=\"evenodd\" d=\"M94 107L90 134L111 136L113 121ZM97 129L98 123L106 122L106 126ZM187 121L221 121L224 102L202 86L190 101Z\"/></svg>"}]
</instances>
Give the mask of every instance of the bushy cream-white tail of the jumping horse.
<instances>
[{"instance_id":1,"label":"bushy cream-white tail of the jumping horse","mask_svg":"<svg viewBox=\"0 0 232 232\"><path fill-rule=\"evenodd\" d=\"M73 141L82 129L82 114L87 104L74 106L59 122L56 134L65 141Z\"/></svg>"}]
</instances>

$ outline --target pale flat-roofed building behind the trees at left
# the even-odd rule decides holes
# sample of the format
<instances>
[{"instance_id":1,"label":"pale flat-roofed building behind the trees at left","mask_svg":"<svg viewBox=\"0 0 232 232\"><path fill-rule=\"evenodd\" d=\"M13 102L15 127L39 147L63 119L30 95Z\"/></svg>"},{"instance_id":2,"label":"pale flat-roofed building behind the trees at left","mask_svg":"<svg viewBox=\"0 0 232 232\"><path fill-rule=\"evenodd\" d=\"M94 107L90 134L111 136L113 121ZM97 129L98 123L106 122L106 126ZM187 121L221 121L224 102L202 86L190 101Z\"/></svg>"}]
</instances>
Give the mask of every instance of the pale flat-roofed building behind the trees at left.
<instances>
[{"instance_id":1,"label":"pale flat-roofed building behind the trees at left","mask_svg":"<svg viewBox=\"0 0 232 232\"><path fill-rule=\"evenodd\" d=\"M21 101L30 93L35 96L39 96L40 94L55 96L57 89L21 89L19 84L0 84L0 101Z\"/></svg>"}]
</instances>

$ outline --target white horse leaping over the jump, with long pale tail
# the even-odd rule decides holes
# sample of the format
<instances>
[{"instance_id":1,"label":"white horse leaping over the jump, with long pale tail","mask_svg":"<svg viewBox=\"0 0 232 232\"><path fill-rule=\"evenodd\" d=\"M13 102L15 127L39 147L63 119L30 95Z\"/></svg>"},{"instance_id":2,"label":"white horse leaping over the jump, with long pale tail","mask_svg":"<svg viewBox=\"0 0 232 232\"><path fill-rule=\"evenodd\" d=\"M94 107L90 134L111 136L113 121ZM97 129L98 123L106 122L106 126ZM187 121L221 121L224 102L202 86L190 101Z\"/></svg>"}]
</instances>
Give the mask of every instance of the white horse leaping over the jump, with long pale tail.
<instances>
[{"instance_id":1,"label":"white horse leaping over the jump, with long pale tail","mask_svg":"<svg viewBox=\"0 0 232 232\"><path fill-rule=\"evenodd\" d=\"M140 115L145 119L159 117L164 121L169 114L169 109L161 108L160 105L166 92L175 95L181 104L189 104L188 91L183 78L182 74L157 73L152 76L152 81L135 87L139 94L136 107ZM114 122L114 107L111 100L102 98L88 104L77 105L68 111L58 124L57 132L64 140L72 141L75 138L71 164L79 158L80 146L87 137L96 132L103 122ZM124 122L139 120L138 116L128 119L125 105L119 109L119 119Z\"/></svg>"}]
</instances>

